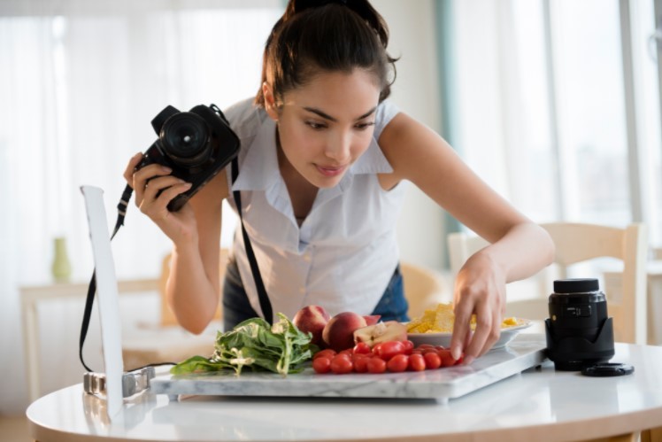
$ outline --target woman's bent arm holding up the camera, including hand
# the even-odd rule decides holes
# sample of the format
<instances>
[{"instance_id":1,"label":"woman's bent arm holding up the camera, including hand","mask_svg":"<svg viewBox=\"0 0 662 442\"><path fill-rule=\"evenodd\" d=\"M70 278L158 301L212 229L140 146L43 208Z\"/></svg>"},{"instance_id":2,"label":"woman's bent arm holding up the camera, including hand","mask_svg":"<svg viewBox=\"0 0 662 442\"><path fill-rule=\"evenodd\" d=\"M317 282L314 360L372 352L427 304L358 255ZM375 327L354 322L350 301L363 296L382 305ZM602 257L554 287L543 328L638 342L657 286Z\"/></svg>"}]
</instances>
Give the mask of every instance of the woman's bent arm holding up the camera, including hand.
<instances>
[{"instance_id":1,"label":"woman's bent arm holding up the camera, including hand","mask_svg":"<svg viewBox=\"0 0 662 442\"><path fill-rule=\"evenodd\" d=\"M225 171L217 174L177 212L168 202L190 186L171 171L152 164L135 171L142 154L132 158L124 173L135 189L135 204L173 241L165 297L186 330L202 332L219 303L219 238L221 203L227 198Z\"/></svg>"}]
</instances>

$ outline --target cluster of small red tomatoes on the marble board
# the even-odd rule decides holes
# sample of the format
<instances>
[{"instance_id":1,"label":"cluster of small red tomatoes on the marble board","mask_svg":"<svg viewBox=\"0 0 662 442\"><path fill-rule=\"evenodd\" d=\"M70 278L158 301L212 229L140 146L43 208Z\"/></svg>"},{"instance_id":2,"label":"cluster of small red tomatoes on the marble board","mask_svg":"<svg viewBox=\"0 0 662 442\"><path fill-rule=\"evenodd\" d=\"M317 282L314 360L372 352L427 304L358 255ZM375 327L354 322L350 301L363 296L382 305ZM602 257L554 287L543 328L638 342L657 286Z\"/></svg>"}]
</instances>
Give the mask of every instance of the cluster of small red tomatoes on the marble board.
<instances>
[{"instance_id":1,"label":"cluster of small red tomatoes on the marble board","mask_svg":"<svg viewBox=\"0 0 662 442\"><path fill-rule=\"evenodd\" d=\"M462 361L453 359L450 350L440 345L421 344L414 347L412 341L389 341L370 348L359 342L354 348L340 353L327 348L312 356L312 368L316 373L399 373L451 367Z\"/></svg>"}]
</instances>

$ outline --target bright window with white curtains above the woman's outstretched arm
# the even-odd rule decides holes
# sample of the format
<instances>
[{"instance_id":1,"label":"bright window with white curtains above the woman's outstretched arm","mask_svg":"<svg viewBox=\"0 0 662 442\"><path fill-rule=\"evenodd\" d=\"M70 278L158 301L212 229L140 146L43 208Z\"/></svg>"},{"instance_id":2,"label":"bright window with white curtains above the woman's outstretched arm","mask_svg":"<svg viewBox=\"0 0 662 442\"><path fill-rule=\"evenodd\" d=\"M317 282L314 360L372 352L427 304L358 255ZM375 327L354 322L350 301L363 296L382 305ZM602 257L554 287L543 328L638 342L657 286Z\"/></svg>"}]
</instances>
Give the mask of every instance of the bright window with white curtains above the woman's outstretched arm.
<instances>
[{"instance_id":1,"label":"bright window with white curtains above the woman's outstretched arm","mask_svg":"<svg viewBox=\"0 0 662 442\"><path fill-rule=\"evenodd\" d=\"M659 246L653 0L456 0L453 11L456 144L469 165L535 221L644 221Z\"/></svg>"}]
</instances>

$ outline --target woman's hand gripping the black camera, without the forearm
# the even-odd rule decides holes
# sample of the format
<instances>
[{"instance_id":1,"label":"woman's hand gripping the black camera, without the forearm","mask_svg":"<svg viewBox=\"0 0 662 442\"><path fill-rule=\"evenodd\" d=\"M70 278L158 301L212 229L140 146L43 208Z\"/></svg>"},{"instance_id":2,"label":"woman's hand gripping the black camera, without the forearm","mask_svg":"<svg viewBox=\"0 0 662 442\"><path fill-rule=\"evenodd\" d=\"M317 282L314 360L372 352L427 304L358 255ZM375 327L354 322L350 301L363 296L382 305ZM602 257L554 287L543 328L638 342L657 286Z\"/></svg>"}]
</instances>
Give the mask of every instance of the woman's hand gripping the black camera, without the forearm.
<instances>
[{"instance_id":1,"label":"woman's hand gripping the black camera, without the forearm","mask_svg":"<svg viewBox=\"0 0 662 442\"><path fill-rule=\"evenodd\" d=\"M159 164L136 169L142 158L142 152L136 153L124 171L124 178L134 189L135 205L149 216L174 244L196 238L196 217L189 203L177 212L170 212L167 208L173 198L190 189L191 183L173 176L170 168Z\"/></svg>"}]
</instances>

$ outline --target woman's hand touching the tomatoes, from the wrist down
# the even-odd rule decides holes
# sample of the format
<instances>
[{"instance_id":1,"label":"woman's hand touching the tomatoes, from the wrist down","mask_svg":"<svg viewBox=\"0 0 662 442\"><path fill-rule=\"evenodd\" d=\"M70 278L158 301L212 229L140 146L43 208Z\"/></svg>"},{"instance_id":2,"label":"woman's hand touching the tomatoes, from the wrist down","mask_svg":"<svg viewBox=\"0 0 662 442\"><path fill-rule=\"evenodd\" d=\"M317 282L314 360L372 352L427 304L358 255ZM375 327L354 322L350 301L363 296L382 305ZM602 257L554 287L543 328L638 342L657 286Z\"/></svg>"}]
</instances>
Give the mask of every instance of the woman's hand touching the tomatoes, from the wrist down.
<instances>
[{"instance_id":1,"label":"woman's hand touching the tomatoes, from the wrist down","mask_svg":"<svg viewBox=\"0 0 662 442\"><path fill-rule=\"evenodd\" d=\"M453 294L455 323L450 340L450 353L456 360L464 352L464 361L470 364L497 342L505 312L505 283L504 272L483 251L460 268ZM472 332L473 314L476 328Z\"/></svg>"}]
</instances>

